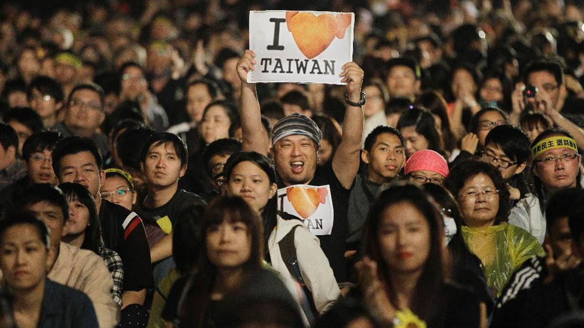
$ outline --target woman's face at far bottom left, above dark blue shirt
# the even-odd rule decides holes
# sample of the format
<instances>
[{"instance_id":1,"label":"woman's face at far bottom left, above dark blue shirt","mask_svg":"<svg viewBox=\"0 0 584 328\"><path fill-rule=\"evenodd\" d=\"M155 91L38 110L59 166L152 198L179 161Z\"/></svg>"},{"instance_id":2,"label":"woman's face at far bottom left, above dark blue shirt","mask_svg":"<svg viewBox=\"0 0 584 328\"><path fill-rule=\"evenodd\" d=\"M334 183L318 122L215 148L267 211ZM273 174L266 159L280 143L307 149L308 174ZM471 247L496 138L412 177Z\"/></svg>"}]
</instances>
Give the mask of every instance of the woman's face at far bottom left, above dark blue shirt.
<instances>
[{"instance_id":1,"label":"woman's face at far bottom left, above dark blue shirt","mask_svg":"<svg viewBox=\"0 0 584 328\"><path fill-rule=\"evenodd\" d=\"M9 290L36 287L47 275L47 262L48 251L36 227L18 224L6 229L0 243L0 270Z\"/></svg>"}]
</instances>

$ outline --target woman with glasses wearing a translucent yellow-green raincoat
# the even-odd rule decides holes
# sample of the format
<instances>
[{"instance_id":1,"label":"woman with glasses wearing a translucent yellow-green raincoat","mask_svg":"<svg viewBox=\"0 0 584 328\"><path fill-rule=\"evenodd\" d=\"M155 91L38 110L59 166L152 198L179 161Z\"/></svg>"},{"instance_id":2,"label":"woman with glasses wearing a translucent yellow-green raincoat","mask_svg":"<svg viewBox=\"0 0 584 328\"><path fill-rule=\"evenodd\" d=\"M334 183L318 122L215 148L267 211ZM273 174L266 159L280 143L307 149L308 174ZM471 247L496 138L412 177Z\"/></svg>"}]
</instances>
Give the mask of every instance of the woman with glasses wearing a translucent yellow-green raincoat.
<instances>
[{"instance_id":1,"label":"woman with glasses wearing a translucent yellow-green raincoat","mask_svg":"<svg viewBox=\"0 0 584 328\"><path fill-rule=\"evenodd\" d=\"M532 256L544 256L537 239L507 223L509 190L501 173L481 160L464 160L454 166L444 186L456 197L463 219L463 237L481 259L493 298L507 280Z\"/></svg>"}]
</instances>

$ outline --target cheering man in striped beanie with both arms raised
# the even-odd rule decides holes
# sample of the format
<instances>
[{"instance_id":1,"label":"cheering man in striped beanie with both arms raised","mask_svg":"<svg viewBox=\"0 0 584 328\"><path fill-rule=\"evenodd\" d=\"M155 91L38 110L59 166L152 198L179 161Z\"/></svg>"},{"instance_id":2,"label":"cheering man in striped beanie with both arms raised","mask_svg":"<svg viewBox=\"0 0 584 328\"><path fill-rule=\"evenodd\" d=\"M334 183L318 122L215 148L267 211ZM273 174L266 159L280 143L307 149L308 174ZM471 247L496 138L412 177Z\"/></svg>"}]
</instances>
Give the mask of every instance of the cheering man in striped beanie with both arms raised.
<instances>
[{"instance_id":1,"label":"cheering man in striped beanie with both arms raised","mask_svg":"<svg viewBox=\"0 0 584 328\"><path fill-rule=\"evenodd\" d=\"M262 131L256 88L255 84L248 83L248 73L256 70L256 64L256 53L252 50L246 50L237 64L242 83L239 101L243 149L266 155L269 149ZM347 204L359 170L363 132L361 106L365 95L361 92L363 70L354 62L347 62L340 68L337 84L346 83L347 106L342 141L332 165L317 172L321 131L311 118L300 114L285 117L274 125L272 152L279 177L278 210L287 217L301 219L318 236L336 280L343 282L347 281L344 257Z\"/></svg>"}]
</instances>

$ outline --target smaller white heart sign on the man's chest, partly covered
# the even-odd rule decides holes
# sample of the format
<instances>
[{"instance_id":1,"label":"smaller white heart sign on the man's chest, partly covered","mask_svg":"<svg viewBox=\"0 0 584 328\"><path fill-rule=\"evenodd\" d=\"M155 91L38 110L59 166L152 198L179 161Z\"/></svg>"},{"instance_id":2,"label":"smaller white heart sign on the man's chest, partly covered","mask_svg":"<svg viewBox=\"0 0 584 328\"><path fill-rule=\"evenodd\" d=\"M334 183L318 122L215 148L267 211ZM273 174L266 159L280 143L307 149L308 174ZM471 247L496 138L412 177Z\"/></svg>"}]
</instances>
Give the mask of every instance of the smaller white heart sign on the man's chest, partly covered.
<instances>
[{"instance_id":1,"label":"smaller white heart sign on the man's chest, partly covered","mask_svg":"<svg viewBox=\"0 0 584 328\"><path fill-rule=\"evenodd\" d=\"M335 218L331 187L295 184L279 189L278 211L284 219L300 219L315 236L330 235Z\"/></svg>"}]
</instances>

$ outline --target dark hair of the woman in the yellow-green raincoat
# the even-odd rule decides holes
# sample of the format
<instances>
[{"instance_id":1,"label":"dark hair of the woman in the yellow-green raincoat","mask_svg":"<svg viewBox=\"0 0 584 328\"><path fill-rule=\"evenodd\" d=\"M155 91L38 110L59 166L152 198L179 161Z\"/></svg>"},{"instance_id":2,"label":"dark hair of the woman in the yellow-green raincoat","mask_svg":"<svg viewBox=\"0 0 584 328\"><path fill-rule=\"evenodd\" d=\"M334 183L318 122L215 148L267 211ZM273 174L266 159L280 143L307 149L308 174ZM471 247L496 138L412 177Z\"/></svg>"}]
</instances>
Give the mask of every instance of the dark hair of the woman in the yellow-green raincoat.
<instances>
[{"instance_id":1,"label":"dark hair of the woman in the yellow-green raincoat","mask_svg":"<svg viewBox=\"0 0 584 328\"><path fill-rule=\"evenodd\" d=\"M489 176L489 179L495 184L495 188L499 190L499 211L495 218L495 225L507 222L510 211L509 190L505 180L503 180L503 176L501 176L501 172L495 166L477 158L463 160L450 170L448 177L444 181L444 187L457 198L467 180L481 173Z\"/></svg>"}]
</instances>

